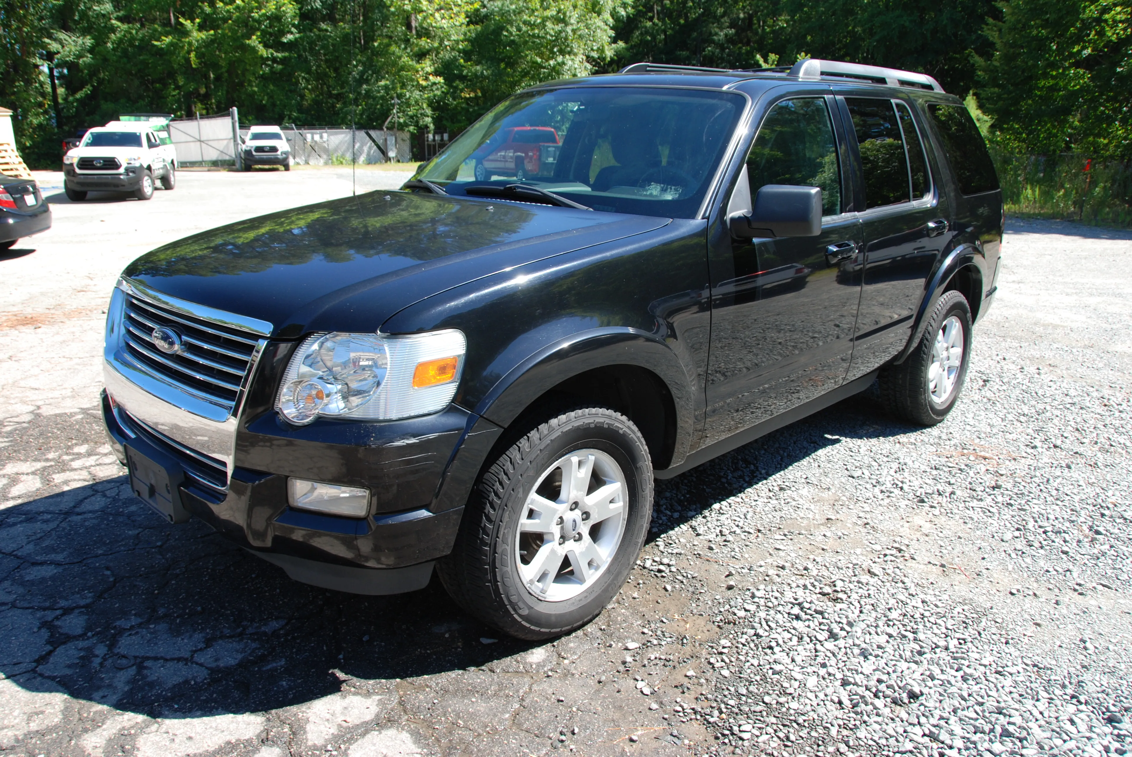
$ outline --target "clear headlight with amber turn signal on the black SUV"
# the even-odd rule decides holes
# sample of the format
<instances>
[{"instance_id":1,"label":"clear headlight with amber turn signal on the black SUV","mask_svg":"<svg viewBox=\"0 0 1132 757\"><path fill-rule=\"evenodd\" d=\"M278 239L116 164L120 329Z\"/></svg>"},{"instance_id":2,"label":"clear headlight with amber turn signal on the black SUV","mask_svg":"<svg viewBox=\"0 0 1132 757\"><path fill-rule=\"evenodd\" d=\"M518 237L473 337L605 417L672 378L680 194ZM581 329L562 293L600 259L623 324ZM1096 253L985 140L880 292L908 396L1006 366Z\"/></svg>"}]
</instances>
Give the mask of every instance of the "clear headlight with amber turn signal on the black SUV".
<instances>
[{"instance_id":1,"label":"clear headlight with amber turn signal on the black SUV","mask_svg":"<svg viewBox=\"0 0 1132 757\"><path fill-rule=\"evenodd\" d=\"M275 407L298 425L319 415L387 421L435 413L456 394L465 351L455 329L316 334L291 358Z\"/></svg>"}]
</instances>

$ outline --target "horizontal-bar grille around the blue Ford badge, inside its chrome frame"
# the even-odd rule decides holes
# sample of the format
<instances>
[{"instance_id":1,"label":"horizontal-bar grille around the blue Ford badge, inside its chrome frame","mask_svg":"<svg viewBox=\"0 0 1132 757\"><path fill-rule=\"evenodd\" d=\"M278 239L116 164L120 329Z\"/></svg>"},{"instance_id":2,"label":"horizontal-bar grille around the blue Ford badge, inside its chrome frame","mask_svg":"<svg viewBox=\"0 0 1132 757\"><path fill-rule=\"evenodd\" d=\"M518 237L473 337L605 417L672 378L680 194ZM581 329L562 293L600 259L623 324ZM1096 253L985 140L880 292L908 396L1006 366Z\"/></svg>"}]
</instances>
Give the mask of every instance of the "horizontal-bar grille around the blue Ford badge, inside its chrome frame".
<instances>
[{"instance_id":1,"label":"horizontal-bar grille around the blue Ford badge, inside its chrome frame","mask_svg":"<svg viewBox=\"0 0 1132 757\"><path fill-rule=\"evenodd\" d=\"M164 308L132 294L126 298L123 342L153 373L189 394L233 412L259 337L248 332ZM180 344L166 339L158 349L157 329L170 329Z\"/></svg>"}]
</instances>

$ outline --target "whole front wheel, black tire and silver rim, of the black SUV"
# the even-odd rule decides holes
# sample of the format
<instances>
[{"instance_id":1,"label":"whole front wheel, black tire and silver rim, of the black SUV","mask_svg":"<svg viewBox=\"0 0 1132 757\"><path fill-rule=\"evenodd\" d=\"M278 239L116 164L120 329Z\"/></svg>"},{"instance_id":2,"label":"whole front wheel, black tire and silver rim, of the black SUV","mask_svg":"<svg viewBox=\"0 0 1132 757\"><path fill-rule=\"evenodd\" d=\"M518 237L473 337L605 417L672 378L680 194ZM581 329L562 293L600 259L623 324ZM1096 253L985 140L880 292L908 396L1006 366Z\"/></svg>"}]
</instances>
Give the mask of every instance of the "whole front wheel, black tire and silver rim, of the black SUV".
<instances>
[{"instance_id":1,"label":"whole front wheel, black tire and silver rim, of the black SUV","mask_svg":"<svg viewBox=\"0 0 1132 757\"><path fill-rule=\"evenodd\" d=\"M591 470L584 489L563 487L577 465ZM516 638L574 630L624 585L649 533L652 489L652 461L632 421L601 407L565 412L481 476L455 548L438 564L440 580L469 614ZM573 575L580 550L592 570L584 582Z\"/></svg>"}]
</instances>

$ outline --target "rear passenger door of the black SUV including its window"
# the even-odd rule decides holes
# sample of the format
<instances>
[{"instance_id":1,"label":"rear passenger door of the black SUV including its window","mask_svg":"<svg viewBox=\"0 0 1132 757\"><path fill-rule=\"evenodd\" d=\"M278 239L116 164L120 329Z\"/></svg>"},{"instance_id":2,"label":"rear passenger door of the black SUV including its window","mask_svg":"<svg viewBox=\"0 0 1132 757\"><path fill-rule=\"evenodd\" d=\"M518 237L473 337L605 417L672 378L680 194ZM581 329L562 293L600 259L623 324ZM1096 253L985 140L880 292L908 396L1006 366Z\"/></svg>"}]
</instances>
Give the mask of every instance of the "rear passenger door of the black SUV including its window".
<instances>
[{"instance_id":1,"label":"rear passenger door of the black SUV including its window","mask_svg":"<svg viewBox=\"0 0 1132 757\"><path fill-rule=\"evenodd\" d=\"M946 195L933 181L924 127L907 102L891 97L839 97L850 152L864 193L864 285L854 335L856 379L895 356L911 336L949 239Z\"/></svg>"}]
</instances>

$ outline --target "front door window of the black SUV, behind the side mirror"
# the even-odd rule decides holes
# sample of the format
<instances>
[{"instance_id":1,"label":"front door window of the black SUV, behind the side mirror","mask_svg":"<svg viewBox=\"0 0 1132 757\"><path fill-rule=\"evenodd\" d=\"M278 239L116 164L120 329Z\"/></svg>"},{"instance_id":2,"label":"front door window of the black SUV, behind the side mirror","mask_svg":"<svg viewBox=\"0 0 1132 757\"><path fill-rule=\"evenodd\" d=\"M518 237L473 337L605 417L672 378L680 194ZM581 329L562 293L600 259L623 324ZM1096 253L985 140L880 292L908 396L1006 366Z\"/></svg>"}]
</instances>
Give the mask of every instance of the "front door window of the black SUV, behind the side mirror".
<instances>
[{"instance_id":1,"label":"front door window of the black SUV, behind the side mirror","mask_svg":"<svg viewBox=\"0 0 1132 757\"><path fill-rule=\"evenodd\" d=\"M820 187L822 215L841 213L841 170L824 98L787 100L771 109L747 155L747 179L752 199L765 184Z\"/></svg>"}]
</instances>

